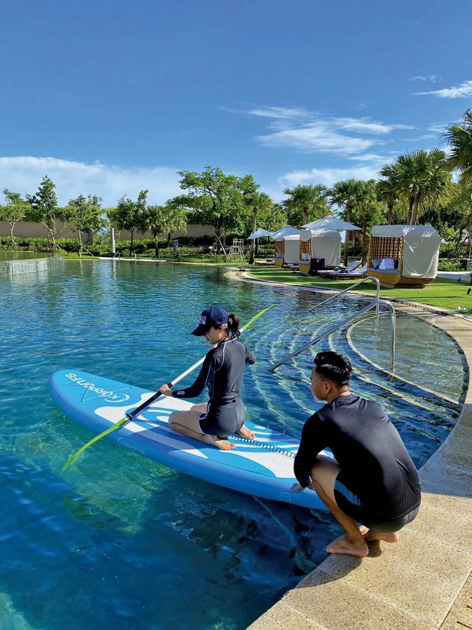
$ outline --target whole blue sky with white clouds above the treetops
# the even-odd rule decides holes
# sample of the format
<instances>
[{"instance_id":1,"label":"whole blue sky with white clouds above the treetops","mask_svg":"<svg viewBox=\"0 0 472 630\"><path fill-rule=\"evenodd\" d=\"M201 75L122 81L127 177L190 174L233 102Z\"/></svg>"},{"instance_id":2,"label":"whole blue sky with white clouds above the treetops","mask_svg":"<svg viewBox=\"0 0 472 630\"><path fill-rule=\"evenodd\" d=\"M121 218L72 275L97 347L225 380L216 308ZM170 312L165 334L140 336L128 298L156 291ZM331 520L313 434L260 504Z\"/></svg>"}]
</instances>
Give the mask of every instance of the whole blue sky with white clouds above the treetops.
<instances>
[{"instance_id":1,"label":"whole blue sky with white clouds above the treetops","mask_svg":"<svg viewBox=\"0 0 472 630\"><path fill-rule=\"evenodd\" d=\"M16 0L0 38L0 190L104 206L178 170L376 176L472 106L472 3Z\"/></svg>"}]
</instances>

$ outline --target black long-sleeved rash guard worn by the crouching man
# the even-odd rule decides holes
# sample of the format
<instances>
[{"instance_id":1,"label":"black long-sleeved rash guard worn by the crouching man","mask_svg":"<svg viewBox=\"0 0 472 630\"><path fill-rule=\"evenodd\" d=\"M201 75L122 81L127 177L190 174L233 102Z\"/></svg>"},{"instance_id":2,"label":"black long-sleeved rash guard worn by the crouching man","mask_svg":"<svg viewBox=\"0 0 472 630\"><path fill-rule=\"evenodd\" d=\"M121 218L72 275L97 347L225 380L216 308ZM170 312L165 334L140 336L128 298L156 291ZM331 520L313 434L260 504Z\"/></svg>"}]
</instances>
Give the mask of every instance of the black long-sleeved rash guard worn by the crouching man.
<instances>
[{"instance_id":1,"label":"black long-sleeved rash guard worn by the crouching man","mask_svg":"<svg viewBox=\"0 0 472 630\"><path fill-rule=\"evenodd\" d=\"M306 420L294 472L306 488L318 453L329 448L340 466L337 479L361 500L362 509L385 520L420 505L417 470L390 418L379 404L340 396Z\"/></svg>"}]
</instances>

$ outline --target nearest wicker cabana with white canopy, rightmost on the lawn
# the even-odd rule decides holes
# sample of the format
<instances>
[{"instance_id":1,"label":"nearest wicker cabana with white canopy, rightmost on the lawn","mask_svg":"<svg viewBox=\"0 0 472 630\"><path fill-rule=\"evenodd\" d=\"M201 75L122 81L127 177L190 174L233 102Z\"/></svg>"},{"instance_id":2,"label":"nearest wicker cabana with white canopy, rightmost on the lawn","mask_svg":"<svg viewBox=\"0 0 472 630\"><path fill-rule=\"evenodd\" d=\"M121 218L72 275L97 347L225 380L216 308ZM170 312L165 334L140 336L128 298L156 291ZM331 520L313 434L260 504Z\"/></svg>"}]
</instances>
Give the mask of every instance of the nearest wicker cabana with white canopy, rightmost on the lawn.
<instances>
[{"instance_id":1,"label":"nearest wicker cabana with white canopy, rightmost on the lawn","mask_svg":"<svg viewBox=\"0 0 472 630\"><path fill-rule=\"evenodd\" d=\"M384 287L422 289L437 275L441 238L431 226L375 226L368 275Z\"/></svg>"}]
</instances>

